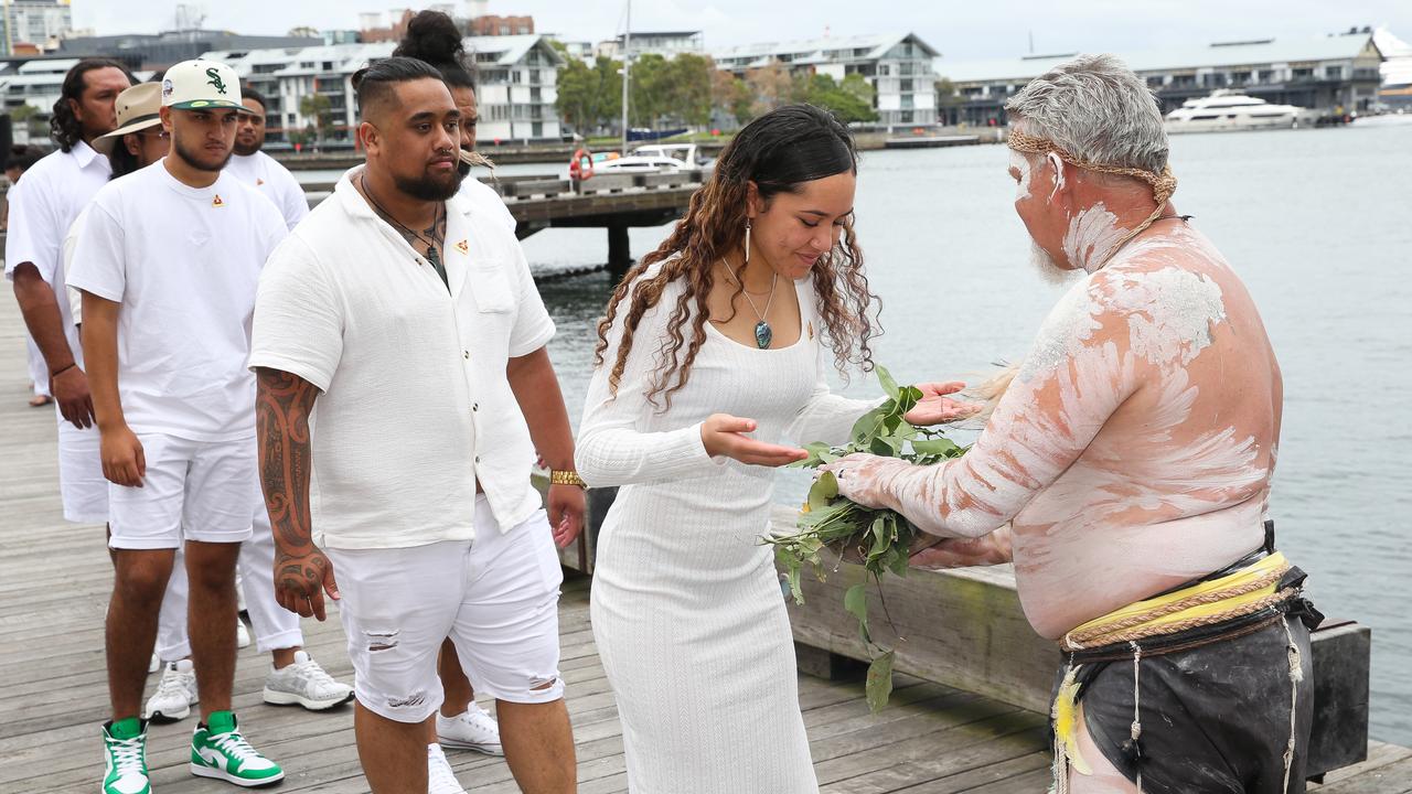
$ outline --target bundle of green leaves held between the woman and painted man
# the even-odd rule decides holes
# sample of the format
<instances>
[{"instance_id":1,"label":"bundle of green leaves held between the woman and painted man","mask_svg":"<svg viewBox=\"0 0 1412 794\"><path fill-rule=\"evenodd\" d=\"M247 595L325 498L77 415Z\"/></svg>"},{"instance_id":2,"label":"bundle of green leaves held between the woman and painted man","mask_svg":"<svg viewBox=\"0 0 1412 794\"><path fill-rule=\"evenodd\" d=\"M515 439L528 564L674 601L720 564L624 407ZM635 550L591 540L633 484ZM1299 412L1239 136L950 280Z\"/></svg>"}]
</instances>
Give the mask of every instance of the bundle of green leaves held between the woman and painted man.
<instances>
[{"instance_id":1,"label":"bundle of green leaves held between the woman and painted man","mask_svg":"<svg viewBox=\"0 0 1412 794\"><path fill-rule=\"evenodd\" d=\"M888 398L854 422L846 445L805 445L809 456L794 463L795 468L816 469L854 452L901 458L922 466L966 454L967 448L956 445L940 431L914 427L904 418L922 398L919 389L898 386L881 366L877 373ZM820 557L825 548L863 567L864 582L844 592L843 609L857 619L858 636L871 658L866 691L868 708L874 712L887 705L892 694L894 651L873 641L868 630L867 581L873 581L882 599L882 574L891 571L905 576L908 558L918 544L926 543L926 537L901 513L864 507L839 496L839 480L833 473L823 472L813 480L808 502L799 510L798 531L767 538L775 547L775 559L785 571L795 603L803 603L799 576L805 567L813 568L815 576L825 581L827 572ZM887 602L881 603L885 612Z\"/></svg>"}]
</instances>

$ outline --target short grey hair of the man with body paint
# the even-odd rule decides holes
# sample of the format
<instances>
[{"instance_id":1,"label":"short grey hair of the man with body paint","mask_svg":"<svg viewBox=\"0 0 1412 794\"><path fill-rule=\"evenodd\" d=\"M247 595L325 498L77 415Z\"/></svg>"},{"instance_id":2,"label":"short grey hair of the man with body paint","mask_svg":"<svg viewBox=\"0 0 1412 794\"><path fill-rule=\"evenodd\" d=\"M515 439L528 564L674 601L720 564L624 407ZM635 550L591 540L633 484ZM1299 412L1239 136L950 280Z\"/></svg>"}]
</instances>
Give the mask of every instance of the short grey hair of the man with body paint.
<instances>
[{"instance_id":1,"label":"short grey hair of the man with body paint","mask_svg":"<svg viewBox=\"0 0 1412 794\"><path fill-rule=\"evenodd\" d=\"M1166 130L1142 78L1113 55L1080 55L1029 81L1005 102L1024 131L1103 165L1161 174Z\"/></svg>"}]
</instances>

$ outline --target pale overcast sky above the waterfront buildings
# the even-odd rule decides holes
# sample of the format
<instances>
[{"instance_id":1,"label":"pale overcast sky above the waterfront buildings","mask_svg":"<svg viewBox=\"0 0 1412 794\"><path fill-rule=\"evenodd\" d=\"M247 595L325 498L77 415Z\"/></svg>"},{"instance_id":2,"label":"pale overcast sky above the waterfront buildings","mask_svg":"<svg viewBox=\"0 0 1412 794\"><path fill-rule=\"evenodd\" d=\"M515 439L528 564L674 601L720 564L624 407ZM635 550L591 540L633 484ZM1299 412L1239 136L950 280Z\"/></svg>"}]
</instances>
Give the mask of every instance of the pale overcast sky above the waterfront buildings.
<instances>
[{"instance_id":1,"label":"pale overcast sky above the waterfront buildings","mask_svg":"<svg viewBox=\"0 0 1412 794\"><path fill-rule=\"evenodd\" d=\"M360 11L405 7L380 0L205 0L208 28L284 34L298 25L357 27ZM411 7L426 7L415 3ZM465 7L465 3L457 3ZM538 32L600 41L623 30L624 0L490 0L493 14L530 14ZM73 0L75 27L100 35L172 27L176 3ZM860 13L860 8L864 13ZM700 30L706 47L823 35L912 31L949 61L1038 54L1131 52L1248 38L1296 40L1387 25L1412 41L1412 0L635 0L633 30ZM945 61L943 61L945 64Z\"/></svg>"}]
</instances>

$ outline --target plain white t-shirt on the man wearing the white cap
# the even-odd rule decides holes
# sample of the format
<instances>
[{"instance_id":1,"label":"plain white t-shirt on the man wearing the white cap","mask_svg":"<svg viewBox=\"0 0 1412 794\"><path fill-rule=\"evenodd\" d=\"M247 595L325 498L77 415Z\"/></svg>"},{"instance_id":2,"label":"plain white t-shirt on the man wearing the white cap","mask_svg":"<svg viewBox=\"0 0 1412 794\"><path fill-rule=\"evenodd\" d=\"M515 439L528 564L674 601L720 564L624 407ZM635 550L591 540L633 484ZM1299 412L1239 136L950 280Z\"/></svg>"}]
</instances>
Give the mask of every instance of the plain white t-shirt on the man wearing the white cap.
<instances>
[{"instance_id":1,"label":"plain white t-shirt on the man wearing the white cap","mask_svg":"<svg viewBox=\"0 0 1412 794\"><path fill-rule=\"evenodd\" d=\"M117 387L134 432L254 435L250 315L260 268L285 233L254 188L229 174L192 188L165 160L93 196L69 281L123 304Z\"/></svg>"}]
</instances>

